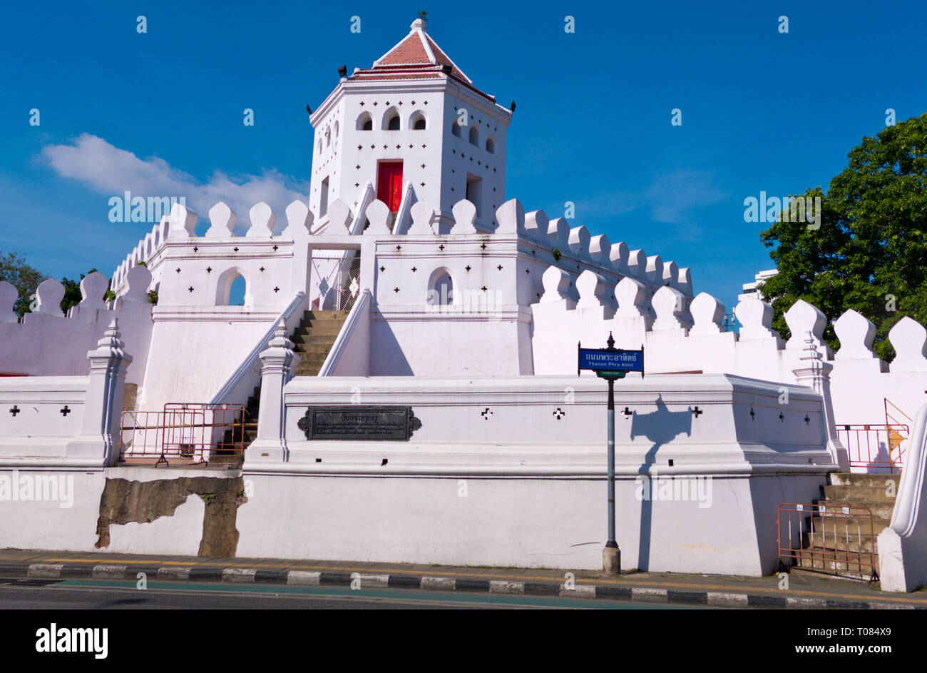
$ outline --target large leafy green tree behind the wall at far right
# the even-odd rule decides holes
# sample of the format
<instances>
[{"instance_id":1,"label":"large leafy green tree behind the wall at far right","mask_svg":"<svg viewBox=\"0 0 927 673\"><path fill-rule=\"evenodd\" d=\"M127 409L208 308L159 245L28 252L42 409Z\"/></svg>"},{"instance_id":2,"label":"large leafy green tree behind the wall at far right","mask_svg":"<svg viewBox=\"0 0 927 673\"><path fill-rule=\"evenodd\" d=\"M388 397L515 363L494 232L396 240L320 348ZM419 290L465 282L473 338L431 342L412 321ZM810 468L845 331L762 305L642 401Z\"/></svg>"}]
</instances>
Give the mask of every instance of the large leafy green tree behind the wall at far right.
<instances>
[{"instance_id":1,"label":"large leafy green tree behind the wall at far right","mask_svg":"<svg viewBox=\"0 0 927 673\"><path fill-rule=\"evenodd\" d=\"M759 286L773 301L773 327L797 300L834 320L847 309L876 327L874 350L891 359L886 336L904 316L927 323L927 113L888 126L847 155L847 167L801 197L820 197L819 228L780 220L760 234L779 274ZM839 342L832 324L824 337Z\"/></svg>"}]
</instances>

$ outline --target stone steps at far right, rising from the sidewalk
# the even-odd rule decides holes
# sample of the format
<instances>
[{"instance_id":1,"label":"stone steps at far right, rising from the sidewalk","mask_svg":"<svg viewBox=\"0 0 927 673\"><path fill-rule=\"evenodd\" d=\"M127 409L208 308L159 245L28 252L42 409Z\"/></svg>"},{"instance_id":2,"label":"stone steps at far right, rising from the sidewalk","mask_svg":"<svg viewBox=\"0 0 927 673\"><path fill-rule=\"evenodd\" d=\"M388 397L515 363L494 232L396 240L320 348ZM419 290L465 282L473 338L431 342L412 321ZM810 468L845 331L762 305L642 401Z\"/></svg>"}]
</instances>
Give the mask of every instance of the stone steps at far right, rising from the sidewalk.
<instances>
[{"instance_id":1,"label":"stone steps at far right, rising from the sidewalk","mask_svg":"<svg viewBox=\"0 0 927 673\"><path fill-rule=\"evenodd\" d=\"M892 519L900 477L900 473L833 472L830 484L821 486L823 498L813 502L826 510L806 517L803 550L798 552L795 567L857 579L878 576L876 538ZM853 509L845 513L844 508L871 511L871 525L867 514L859 512L862 515L857 516ZM857 553L860 551L861 554ZM873 551L874 563L870 555Z\"/></svg>"}]
</instances>

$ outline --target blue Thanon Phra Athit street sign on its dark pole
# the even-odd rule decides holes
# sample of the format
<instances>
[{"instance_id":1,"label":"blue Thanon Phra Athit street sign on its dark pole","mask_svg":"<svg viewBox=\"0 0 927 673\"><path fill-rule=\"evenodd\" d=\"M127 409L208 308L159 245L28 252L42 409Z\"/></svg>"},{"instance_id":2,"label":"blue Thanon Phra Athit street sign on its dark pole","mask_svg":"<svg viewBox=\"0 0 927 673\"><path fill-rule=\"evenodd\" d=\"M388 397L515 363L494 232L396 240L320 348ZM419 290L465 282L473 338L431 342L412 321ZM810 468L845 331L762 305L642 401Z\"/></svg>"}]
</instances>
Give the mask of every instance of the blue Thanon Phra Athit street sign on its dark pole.
<instances>
[{"instance_id":1,"label":"blue Thanon Phra Athit street sign on its dark pole","mask_svg":"<svg viewBox=\"0 0 927 673\"><path fill-rule=\"evenodd\" d=\"M640 351L626 351L615 347L615 338L608 334L607 348L591 349L578 343L577 374L582 369L595 371L596 376L608 382L608 541L602 550L602 569L606 575L621 572L621 550L615 535L615 381L624 379L629 371L640 371L643 376L643 346Z\"/></svg>"}]
</instances>

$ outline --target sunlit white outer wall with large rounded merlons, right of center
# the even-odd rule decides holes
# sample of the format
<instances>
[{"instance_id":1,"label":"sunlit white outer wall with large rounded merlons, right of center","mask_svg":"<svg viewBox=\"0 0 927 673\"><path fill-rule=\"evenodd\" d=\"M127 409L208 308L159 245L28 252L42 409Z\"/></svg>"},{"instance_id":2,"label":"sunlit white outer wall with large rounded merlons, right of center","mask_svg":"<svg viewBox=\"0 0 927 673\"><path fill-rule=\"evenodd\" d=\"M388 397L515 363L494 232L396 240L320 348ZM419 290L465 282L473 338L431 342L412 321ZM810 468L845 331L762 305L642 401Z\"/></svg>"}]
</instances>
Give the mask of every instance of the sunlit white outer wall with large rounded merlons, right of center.
<instances>
[{"instance_id":1,"label":"sunlit white outer wall with large rounded merlons, right of center","mask_svg":"<svg viewBox=\"0 0 927 673\"><path fill-rule=\"evenodd\" d=\"M651 266L655 271L653 258ZM724 304L706 292L687 304L685 295L671 286L648 296L636 278L603 285L601 278L583 272L573 285L570 279L551 266L544 273L544 294L531 306L536 374L571 371L568 355L577 342L605 343L612 333L618 347L644 346L648 374L727 373L794 383L803 354L813 348L833 366L838 423L884 422L886 397L902 409L916 410L927 387L927 329L910 317L903 317L888 333L895 349L888 363L872 352L874 325L856 311L846 311L834 321L840 339L834 353L823 340L827 317L803 300L785 313L792 334L786 341L772 329L772 306L756 297L745 297L734 307L741 328L733 332L723 324Z\"/></svg>"}]
</instances>

